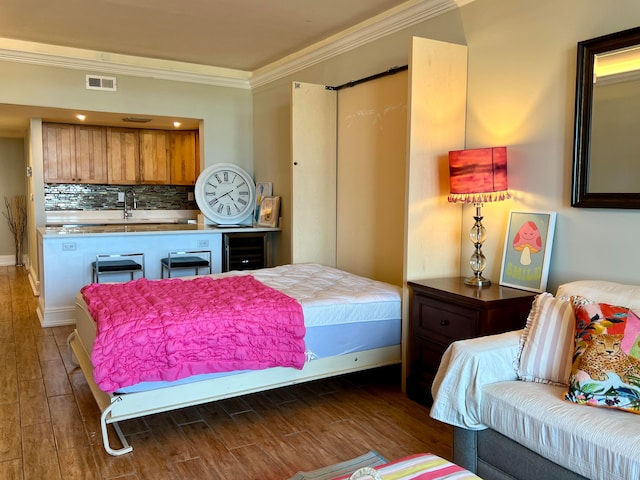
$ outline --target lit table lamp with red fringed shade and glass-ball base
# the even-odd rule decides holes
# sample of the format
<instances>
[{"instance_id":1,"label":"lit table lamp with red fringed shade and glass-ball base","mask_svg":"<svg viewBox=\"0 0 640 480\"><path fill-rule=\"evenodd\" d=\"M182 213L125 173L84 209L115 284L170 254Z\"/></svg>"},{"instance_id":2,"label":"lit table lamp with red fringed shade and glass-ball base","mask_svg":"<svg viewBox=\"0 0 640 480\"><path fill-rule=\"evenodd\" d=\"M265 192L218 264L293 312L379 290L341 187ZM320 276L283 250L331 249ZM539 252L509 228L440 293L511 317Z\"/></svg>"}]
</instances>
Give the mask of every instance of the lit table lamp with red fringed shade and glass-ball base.
<instances>
[{"instance_id":1,"label":"lit table lamp with red fringed shade and glass-ball base","mask_svg":"<svg viewBox=\"0 0 640 480\"><path fill-rule=\"evenodd\" d=\"M487 259L482 244L487 231L482 225L482 204L498 202L511 197L507 190L507 147L475 148L449 152L449 182L452 203L473 203L475 223L469 236L475 251L469 259L473 276L464 283L475 287L491 285L482 276Z\"/></svg>"}]
</instances>

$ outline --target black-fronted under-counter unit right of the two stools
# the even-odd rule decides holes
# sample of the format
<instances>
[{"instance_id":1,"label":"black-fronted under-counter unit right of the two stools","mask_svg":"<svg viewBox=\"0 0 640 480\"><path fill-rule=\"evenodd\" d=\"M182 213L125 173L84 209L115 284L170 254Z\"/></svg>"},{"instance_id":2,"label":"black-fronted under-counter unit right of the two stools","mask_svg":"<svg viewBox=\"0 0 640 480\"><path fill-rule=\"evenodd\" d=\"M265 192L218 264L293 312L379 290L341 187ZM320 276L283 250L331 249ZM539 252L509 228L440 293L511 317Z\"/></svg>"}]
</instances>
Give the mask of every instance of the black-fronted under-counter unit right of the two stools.
<instances>
[{"instance_id":1,"label":"black-fronted under-counter unit right of the two stools","mask_svg":"<svg viewBox=\"0 0 640 480\"><path fill-rule=\"evenodd\" d=\"M267 232L223 233L222 271L269 266Z\"/></svg>"}]
</instances>

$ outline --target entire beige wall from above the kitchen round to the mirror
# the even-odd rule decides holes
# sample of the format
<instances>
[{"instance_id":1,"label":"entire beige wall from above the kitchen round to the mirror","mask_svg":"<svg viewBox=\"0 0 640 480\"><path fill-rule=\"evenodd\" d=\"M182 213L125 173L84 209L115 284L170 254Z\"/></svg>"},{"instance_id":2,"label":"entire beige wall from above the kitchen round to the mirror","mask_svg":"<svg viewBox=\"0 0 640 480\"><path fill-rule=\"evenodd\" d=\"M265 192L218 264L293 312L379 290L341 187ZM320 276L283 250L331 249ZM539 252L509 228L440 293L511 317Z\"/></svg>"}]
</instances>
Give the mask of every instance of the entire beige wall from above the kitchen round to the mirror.
<instances>
[{"instance_id":1,"label":"entire beige wall from above the kitchen round to the mirror","mask_svg":"<svg viewBox=\"0 0 640 480\"><path fill-rule=\"evenodd\" d=\"M414 35L466 44L466 146L507 145L515 193L483 210L488 276L499 277L508 211L552 210L558 221L550 289L586 277L638 283L640 212L570 207L576 44L635 27L638 18L637 0L475 0L253 92L124 75L117 93L95 92L84 88L84 71L0 62L0 103L204 119L205 165L237 163L257 181L272 181L283 197L285 231L274 253L286 262L291 82L340 85L405 65ZM464 259L471 254L471 217L465 208Z\"/></svg>"}]
</instances>

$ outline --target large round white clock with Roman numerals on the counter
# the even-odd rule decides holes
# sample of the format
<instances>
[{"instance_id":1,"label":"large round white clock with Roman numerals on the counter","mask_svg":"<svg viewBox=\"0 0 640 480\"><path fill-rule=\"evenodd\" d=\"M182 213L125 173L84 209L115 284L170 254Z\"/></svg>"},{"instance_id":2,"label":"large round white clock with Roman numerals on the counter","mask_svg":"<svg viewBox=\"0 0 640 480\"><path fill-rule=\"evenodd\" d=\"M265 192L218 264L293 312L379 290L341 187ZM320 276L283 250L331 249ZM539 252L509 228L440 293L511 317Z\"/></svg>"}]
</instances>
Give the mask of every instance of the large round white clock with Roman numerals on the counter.
<instances>
[{"instance_id":1,"label":"large round white clock with Roman numerals on the counter","mask_svg":"<svg viewBox=\"0 0 640 480\"><path fill-rule=\"evenodd\" d=\"M253 213L256 185L251 175L232 163L205 168L195 186L200 211L218 225L234 225Z\"/></svg>"}]
</instances>

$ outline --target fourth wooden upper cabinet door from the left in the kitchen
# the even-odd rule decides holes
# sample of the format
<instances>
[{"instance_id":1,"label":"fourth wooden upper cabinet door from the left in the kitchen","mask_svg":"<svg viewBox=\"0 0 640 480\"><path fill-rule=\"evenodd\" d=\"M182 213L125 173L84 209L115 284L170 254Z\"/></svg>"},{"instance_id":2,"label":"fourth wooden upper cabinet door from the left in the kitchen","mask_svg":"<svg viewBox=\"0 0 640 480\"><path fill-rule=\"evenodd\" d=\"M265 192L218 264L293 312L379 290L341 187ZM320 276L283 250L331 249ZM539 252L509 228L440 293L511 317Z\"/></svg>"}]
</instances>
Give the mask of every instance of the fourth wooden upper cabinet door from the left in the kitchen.
<instances>
[{"instance_id":1,"label":"fourth wooden upper cabinet door from the left in the kitchen","mask_svg":"<svg viewBox=\"0 0 640 480\"><path fill-rule=\"evenodd\" d=\"M165 130L140 130L140 182L170 183L169 134Z\"/></svg>"}]
</instances>

